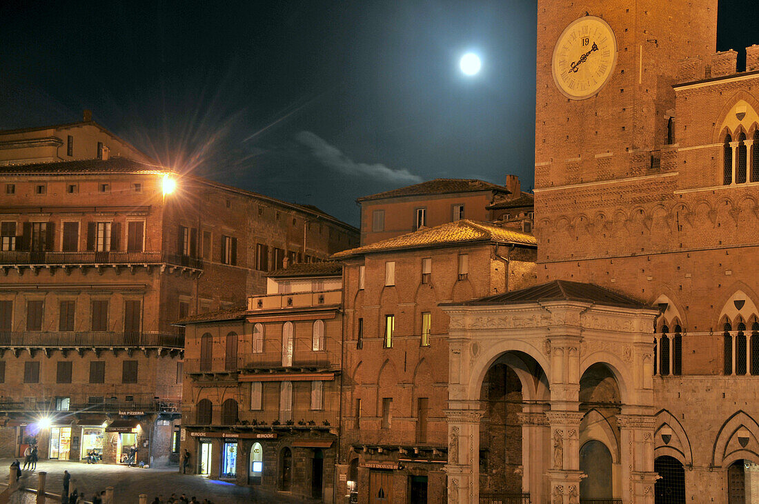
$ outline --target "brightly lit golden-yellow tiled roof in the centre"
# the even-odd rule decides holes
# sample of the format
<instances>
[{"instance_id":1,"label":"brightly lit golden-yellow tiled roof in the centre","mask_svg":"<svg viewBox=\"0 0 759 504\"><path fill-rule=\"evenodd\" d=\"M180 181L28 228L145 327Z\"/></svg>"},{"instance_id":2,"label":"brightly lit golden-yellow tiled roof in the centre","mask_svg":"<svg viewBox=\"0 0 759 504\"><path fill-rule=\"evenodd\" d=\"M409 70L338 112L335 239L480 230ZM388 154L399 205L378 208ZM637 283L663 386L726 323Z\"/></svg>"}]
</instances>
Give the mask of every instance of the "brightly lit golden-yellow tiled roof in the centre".
<instances>
[{"instance_id":1,"label":"brightly lit golden-yellow tiled roof in the centre","mask_svg":"<svg viewBox=\"0 0 759 504\"><path fill-rule=\"evenodd\" d=\"M461 221L440 224L436 227L421 228L414 233L394 236L381 242L358 247L357 249L344 250L332 255L333 259L349 257L351 255L368 254L371 252L384 252L394 249L418 249L426 246L445 246L457 243L493 241L500 243L512 243L516 245L535 246L535 236L521 231L496 226L490 222Z\"/></svg>"}]
</instances>

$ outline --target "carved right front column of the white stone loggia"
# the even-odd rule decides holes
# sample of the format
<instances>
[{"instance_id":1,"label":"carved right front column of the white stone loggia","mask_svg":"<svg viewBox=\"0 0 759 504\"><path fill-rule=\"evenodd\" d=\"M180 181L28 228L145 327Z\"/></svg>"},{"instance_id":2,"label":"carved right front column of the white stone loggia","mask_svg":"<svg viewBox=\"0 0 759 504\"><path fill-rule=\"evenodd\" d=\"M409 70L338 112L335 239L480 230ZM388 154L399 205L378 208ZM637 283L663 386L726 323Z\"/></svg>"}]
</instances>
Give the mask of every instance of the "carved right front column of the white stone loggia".
<instances>
[{"instance_id":1,"label":"carved right front column of the white stone loggia","mask_svg":"<svg viewBox=\"0 0 759 504\"><path fill-rule=\"evenodd\" d=\"M617 415L622 450L622 502L653 504L653 415Z\"/></svg>"}]
</instances>

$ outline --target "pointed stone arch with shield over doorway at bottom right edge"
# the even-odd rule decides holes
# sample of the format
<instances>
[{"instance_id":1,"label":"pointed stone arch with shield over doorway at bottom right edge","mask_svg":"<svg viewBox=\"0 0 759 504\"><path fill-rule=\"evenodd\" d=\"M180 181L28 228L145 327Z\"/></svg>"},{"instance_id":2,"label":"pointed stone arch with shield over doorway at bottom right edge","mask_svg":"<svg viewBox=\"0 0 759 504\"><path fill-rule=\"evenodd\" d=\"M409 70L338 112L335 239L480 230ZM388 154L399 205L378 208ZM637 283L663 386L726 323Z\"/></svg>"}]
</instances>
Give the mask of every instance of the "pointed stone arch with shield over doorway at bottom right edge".
<instances>
[{"instance_id":1,"label":"pointed stone arch with shield over doorway at bottom right edge","mask_svg":"<svg viewBox=\"0 0 759 504\"><path fill-rule=\"evenodd\" d=\"M746 434L744 444L739 438ZM743 410L730 416L716 435L712 452L712 465L728 467L739 459L759 463L759 424Z\"/></svg>"}]
</instances>

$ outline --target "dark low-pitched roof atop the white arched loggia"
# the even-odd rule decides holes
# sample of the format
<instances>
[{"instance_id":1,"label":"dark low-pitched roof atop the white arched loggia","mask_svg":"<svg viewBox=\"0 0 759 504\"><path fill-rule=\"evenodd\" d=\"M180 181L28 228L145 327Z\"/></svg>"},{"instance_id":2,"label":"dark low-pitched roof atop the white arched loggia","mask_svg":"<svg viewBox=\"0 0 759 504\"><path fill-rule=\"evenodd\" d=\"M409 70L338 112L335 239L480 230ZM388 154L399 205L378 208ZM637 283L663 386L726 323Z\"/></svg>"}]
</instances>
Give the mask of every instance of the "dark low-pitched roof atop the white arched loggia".
<instances>
[{"instance_id":1,"label":"dark low-pitched roof atop the white arched loggia","mask_svg":"<svg viewBox=\"0 0 759 504\"><path fill-rule=\"evenodd\" d=\"M651 308L637 299L622 296L622 294L604 289L594 283L569 282L567 280L553 280L553 282L513 290L510 293L485 296L461 303L445 303L445 305L519 305L546 301L578 301L622 308Z\"/></svg>"}]
</instances>

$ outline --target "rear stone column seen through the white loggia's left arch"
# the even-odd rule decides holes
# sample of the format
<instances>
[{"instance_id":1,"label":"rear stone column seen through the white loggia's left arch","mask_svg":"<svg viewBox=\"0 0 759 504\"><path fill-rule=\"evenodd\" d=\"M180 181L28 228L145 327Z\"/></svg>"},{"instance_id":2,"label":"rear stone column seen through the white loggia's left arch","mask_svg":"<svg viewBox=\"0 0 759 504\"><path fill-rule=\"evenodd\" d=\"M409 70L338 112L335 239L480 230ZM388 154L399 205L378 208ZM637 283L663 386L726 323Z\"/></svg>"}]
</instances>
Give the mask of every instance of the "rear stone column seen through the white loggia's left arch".
<instances>
[{"instance_id":1,"label":"rear stone column seen through the white loggia's left arch","mask_svg":"<svg viewBox=\"0 0 759 504\"><path fill-rule=\"evenodd\" d=\"M518 418L522 426L522 492L530 494L531 502L547 502L546 471L550 468L551 453L548 418L543 411L522 412Z\"/></svg>"}]
</instances>

